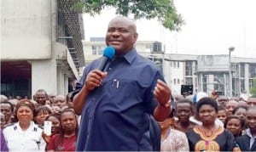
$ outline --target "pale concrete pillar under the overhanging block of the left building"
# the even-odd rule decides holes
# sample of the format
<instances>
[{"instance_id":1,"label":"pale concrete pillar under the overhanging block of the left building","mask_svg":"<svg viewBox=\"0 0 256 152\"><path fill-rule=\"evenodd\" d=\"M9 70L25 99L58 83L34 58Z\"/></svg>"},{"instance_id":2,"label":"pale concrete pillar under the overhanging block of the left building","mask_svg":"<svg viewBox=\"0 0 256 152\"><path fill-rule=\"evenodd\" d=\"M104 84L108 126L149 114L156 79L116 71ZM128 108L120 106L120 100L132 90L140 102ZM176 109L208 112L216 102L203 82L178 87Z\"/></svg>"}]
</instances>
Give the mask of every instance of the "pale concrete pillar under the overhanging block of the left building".
<instances>
[{"instance_id":1,"label":"pale concrete pillar under the overhanging block of the left building","mask_svg":"<svg viewBox=\"0 0 256 152\"><path fill-rule=\"evenodd\" d=\"M57 77L55 59L32 60L32 95L38 89L47 93L56 93Z\"/></svg>"}]
</instances>

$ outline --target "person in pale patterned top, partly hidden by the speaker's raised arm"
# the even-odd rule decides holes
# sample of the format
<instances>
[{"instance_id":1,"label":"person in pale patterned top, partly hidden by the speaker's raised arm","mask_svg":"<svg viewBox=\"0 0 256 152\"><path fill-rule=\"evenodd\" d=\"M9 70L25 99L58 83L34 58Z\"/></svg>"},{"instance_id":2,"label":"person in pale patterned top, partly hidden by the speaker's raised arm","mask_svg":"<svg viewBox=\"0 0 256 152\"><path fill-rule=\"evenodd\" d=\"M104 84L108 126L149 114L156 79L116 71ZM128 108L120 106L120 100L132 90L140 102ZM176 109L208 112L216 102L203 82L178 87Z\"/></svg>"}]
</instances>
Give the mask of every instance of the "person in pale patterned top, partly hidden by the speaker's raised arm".
<instances>
[{"instance_id":1,"label":"person in pale patterned top, partly hidden by the speaker's raised arm","mask_svg":"<svg viewBox=\"0 0 256 152\"><path fill-rule=\"evenodd\" d=\"M174 119L172 115L165 121L159 122L161 130L161 151L189 151L188 138L186 134L172 129Z\"/></svg>"}]
</instances>

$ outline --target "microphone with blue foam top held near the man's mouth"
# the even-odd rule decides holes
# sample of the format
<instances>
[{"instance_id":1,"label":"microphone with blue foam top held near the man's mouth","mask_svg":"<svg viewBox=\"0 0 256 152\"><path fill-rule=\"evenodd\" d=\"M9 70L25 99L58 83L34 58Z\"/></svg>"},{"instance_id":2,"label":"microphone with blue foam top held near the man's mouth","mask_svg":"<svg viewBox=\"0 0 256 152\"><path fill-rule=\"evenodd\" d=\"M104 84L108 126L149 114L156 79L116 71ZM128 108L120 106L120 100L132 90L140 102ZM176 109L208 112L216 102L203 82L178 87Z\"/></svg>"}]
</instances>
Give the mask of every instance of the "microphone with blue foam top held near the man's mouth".
<instances>
[{"instance_id":1,"label":"microphone with blue foam top held near the man's mouth","mask_svg":"<svg viewBox=\"0 0 256 152\"><path fill-rule=\"evenodd\" d=\"M115 50L113 47L108 46L107 48L105 48L103 51L102 62L97 69L104 71L106 66L108 65L108 61L113 59L114 54Z\"/></svg>"}]
</instances>

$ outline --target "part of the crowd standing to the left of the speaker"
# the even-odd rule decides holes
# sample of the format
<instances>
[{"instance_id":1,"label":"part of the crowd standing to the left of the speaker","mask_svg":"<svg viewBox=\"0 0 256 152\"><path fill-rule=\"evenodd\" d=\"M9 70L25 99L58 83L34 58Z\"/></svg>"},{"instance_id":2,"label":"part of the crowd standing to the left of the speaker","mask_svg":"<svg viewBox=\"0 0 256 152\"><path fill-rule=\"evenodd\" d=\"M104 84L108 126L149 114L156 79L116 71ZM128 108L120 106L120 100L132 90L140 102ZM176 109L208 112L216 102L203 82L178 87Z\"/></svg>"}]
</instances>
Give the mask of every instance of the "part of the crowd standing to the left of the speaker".
<instances>
[{"instance_id":1,"label":"part of the crowd standing to the left of the speaker","mask_svg":"<svg viewBox=\"0 0 256 152\"><path fill-rule=\"evenodd\" d=\"M48 95L39 89L33 99L1 95L1 151L75 151L78 115L70 94ZM44 132L51 122L51 133Z\"/></svg>"}]
</instances>

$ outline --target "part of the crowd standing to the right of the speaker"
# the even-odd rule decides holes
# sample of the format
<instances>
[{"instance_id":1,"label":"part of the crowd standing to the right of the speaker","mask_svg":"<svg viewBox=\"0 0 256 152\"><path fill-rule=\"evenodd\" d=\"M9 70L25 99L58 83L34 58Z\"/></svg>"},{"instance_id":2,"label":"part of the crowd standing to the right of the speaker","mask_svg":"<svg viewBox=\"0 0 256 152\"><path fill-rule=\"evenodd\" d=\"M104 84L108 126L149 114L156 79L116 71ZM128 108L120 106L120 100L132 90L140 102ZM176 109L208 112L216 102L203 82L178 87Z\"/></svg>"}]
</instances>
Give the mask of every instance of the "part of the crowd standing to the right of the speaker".
<instances>
[{"instance_id":1,"label":"part of the crowd standing to the right of the speaker","mask_svg":"<svg viewBox=\"0 0 256 152\"><path fill-rule=\"evenodd\" d=\"M244 100L203 93L195 100L198 94L177 96L174 115L160 122L162 151L256 150L256 96Z\"/></svg>"}]
</instances>

